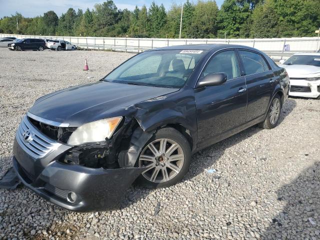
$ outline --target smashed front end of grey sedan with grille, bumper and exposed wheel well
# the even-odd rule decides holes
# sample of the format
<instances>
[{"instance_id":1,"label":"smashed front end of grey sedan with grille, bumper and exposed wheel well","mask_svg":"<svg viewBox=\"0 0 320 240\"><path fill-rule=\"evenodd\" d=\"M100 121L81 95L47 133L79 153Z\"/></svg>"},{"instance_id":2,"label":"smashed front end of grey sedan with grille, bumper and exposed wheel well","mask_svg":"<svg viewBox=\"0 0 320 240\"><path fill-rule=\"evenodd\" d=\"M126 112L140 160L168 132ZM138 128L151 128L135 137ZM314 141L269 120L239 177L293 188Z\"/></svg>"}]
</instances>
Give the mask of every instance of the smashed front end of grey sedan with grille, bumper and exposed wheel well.
<instances>
[{"instance_id":1,"label":"smashed front end of grey sedan with grille, bumper and exposed wheel well","mask_svg":"<svg viewBox=\"0 0 320 240\"><path fill-rule=\"evenodd\" d=\"M16 132L13 168L24 185L64 208L112 208L145 170L135 162L152 133L126 117L109 139L72 146L66 134L74 129L48 127L25 116ZM30 138L25 139L26 132Z\"/></svg>"}]
</instances>

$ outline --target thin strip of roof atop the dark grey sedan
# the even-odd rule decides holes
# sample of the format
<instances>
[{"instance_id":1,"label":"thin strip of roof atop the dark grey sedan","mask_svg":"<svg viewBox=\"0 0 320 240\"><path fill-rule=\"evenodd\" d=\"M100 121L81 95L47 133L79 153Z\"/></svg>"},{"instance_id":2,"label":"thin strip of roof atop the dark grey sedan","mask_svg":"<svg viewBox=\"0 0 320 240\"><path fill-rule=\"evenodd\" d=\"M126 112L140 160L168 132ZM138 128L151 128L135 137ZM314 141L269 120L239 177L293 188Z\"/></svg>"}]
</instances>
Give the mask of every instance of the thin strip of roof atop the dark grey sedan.
<instances>
[{"instance_id":1,"label":"thin strip of roof atop the dark grey sedan","mask_svg":"<svg viewBox=\"0 0 320 240\"><path fill-rule=\"evenodd\" d=\"M186 44L186 45L175 45L175 46L165 46L165 47L158 47L155 49L150 49L150 51L154 50L219 50L226 47L240 47L246 48L251 50L257 50L250 46L244 45L235 45L235 44ZM259 50L257 50L259 51Z\"/></svg>"}]
</instances>

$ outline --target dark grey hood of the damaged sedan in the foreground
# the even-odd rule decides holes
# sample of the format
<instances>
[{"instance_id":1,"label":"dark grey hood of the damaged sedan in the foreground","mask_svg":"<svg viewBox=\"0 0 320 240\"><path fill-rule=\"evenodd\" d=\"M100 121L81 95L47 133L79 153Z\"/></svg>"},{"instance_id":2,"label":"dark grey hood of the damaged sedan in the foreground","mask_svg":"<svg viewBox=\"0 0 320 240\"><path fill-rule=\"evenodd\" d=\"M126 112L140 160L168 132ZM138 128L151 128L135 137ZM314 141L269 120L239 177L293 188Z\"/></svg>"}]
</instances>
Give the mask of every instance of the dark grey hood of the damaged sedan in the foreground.
<instances>
[{"instance_id":1,"label":"dark grey hood of the damaged sedan in the foreground","mask_svg":"<svg viewBox=\"0 0 320 240\"><path fill-rule=\"evenodd\" d=\"M44 95L34 102L29 112L50 121L80 126L115 116L120 109L177 90L98 81Z\"/></svg>"}]
</instances>

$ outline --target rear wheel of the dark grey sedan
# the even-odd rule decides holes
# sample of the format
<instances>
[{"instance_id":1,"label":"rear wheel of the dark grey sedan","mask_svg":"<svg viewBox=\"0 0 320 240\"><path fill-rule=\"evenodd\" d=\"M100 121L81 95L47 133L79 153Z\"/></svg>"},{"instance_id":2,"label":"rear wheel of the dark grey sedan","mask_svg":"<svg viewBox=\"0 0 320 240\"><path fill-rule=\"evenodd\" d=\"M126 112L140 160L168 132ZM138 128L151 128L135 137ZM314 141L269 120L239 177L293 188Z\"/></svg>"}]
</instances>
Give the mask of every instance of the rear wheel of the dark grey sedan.
<instances>
[{"instance_id":1,"label":"rear wheel of the dark grey sedan","mask_svg":"<svg viewBox=\"0 0 320 240\"><path fill-rule=\"evenodd\" d=\"M276 94L271 101L264 121L260 122L259 126L266 129L275 127L279 123L281 108L281 98Z\"/></svg>"}]
</instances>

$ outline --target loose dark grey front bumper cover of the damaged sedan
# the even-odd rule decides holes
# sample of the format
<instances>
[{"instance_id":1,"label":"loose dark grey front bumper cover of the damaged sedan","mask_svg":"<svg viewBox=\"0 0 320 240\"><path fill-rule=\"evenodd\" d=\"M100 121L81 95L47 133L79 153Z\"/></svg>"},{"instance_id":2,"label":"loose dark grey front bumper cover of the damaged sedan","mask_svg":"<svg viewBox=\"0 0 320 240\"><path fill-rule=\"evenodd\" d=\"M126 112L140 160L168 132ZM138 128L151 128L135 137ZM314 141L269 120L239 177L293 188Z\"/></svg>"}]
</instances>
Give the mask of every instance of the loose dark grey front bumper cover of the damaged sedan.
<instances>
[{"instance_id":1,"label":"loose dark grey front bumper cover of the damaged sedan","mask_svg":"<svg viewBox=\"0 0 320 240\"><path fill-rule=\"evenodd\" d=\"M35 131L33 128L31 130ZM70 148L64 144L45 156L32 156L23 145L25 143L20 141L20 133L18 128L12 160L18 178L35 193L69 210L99 211L114 207L125 190L145 170L138 167L104 169L65 164L58 161ZM34 132L34 138L40 134Z\"/></svg>"}]
</instances>

